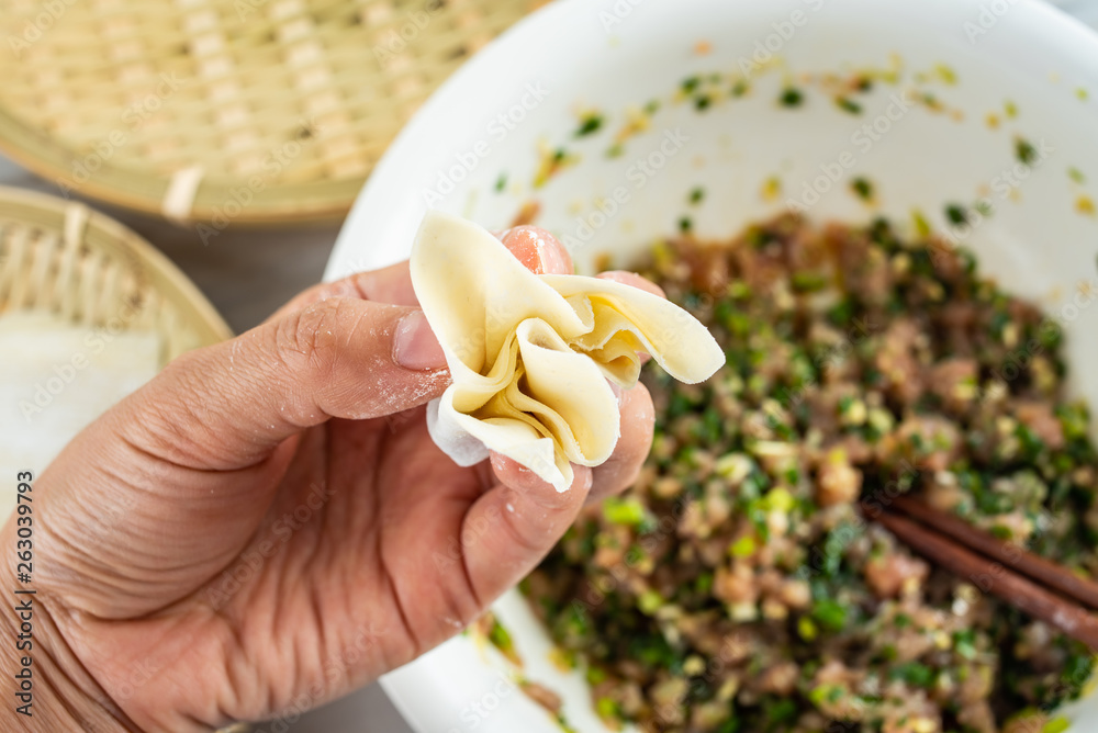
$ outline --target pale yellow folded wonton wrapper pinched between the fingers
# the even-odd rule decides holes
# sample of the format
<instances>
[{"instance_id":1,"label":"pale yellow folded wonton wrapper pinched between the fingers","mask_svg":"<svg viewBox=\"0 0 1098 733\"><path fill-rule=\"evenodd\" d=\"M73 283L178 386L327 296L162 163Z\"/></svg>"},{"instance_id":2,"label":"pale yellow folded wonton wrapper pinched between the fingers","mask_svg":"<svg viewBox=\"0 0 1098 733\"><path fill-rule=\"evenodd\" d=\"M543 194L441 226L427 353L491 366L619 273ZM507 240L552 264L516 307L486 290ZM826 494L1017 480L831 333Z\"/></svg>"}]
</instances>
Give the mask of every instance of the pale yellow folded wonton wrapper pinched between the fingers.
<instances>
[{"instance_id":1,"label":"pale yellow folded wonton wrapper pinched between the fingers","mask_svg":"<svg viewBox=\"0 0 1098 733\"><path fill-rule=\"evenodd\" d=\"M629 388L638 351L675 379L708 379L725 354L705 326L651 293L580 275L534 274L488 230L428 213L412 284L453 383L427 427L459 465L494 450L563 492L572 466L606 461L620 435L607 380Z\"/></svg>"}]
</instances>

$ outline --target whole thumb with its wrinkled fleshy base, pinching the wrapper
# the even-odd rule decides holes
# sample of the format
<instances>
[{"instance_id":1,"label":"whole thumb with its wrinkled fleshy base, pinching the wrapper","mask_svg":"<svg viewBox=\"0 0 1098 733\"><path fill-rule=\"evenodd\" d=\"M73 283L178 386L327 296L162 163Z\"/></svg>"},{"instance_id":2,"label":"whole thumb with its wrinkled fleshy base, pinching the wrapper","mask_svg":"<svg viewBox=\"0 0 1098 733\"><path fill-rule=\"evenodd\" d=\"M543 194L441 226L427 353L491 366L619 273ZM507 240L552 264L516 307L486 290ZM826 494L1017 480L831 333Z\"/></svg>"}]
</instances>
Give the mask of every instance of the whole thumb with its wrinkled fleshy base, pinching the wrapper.
<instances>
[{"instance_id":1,"label":"whole thumb with its wrinkled fleshy base, pinching the wrapper","mask_svg":"<svg viewBox=\"0 0 1098 733\"><path fill-rule=\"evenodd\" d=\"M418 406L445 390L444 363L421 311L358 298L177 359L43 474L40 580L104 618L173 602L243 550L298 433Z\"/></svg>"}]
</instances>

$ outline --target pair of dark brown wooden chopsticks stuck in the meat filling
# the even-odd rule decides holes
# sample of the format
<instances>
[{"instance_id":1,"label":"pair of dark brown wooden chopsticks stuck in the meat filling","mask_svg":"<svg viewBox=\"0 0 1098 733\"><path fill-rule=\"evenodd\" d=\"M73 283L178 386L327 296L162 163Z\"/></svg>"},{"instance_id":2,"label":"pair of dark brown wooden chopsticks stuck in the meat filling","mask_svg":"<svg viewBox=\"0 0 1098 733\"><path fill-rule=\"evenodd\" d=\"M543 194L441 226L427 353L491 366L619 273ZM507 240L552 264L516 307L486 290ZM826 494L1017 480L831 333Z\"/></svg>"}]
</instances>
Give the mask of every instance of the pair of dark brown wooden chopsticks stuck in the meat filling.
<instances>
[{"instance_id":1,"label":"pair of dark brown wooden chopsticks stuck in the meat filling","mask_svg":"<svg viewBox=\"0 0 1098 733\"><path fill-rule=\"evenodd\" d=\"M968 580L981 590L990 593L1029 616L1045 621L1090 649L1098 649L1098 617L1090 613L1080 604L1049 590L1045 586L1039 585L1022 575L1021 572L1013 570L1019 567L1017 557L1022 554L1029 555L1029 560L1023 561L1022 564L1033 570L1042 568L1038 571L1037 577L1046 582L1047 576L1042 573L1043 568L1046 568L1047 561L1033 562L1043 559L1037 557L1017 545L1007 545L1001 540L965 523L963 520L949 517L926 504L920 504L912 509L915 504L919 504L917 499L904 498L903 501L896 500L893 504L895 510L889 508L882 512L878 507L873 507L873 510L867 511L867 516L888 529L919 554ZM908 512L909 517L901 516L897 511ZM919 523L916 518L927 523ZM950 520L955 520L955 522ZM956 534L951 534L951 532L956 532ZM1001 554L1004 545L1007 548L1006 556ZM977 554L968 548L981 550L989 548L991 549L991 552L988 553L990 556ZM1016 560L1011 563L1010 559ZM1050 564L1055 565L1054 563ZM1058 565L1055 567L1057 577L1062 574L1069 574L1069 571L1064 567ZM1083 585L1094 586L1082 578L1078 579ZM1062 583L1062 585L1073 589L1079 587L1075 584ZM1057 588L1063 593L1068 593L1060 586ZM1094 590L1093 587L1087 588L1084 594L1089 595ZM1074 597L1074 593L1071 595Z\"/></svg>"}]
</instances>

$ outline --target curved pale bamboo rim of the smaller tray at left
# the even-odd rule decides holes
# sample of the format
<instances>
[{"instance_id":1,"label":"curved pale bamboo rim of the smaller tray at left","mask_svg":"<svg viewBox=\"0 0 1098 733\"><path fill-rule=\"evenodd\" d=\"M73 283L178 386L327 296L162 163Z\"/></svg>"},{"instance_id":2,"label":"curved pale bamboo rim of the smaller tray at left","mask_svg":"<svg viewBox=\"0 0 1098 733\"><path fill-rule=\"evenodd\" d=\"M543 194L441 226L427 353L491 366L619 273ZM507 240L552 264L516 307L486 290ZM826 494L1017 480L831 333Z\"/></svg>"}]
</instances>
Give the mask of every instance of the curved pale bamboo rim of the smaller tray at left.
<instances>
[{"instance_id":1,"label":"curved pale bamboo rim of the smaller tray at left","mask_svg":"<svg viewBox=\"0 0 1098 733\"><path fill-rule=\"evenodd\" d=\"M11 219L63 234L74 207L82 207L88 215L80 245L136 261L150 285L191 317L203 346L233 337L228 324L198 286L167 256L130 227L82 203L0 185L0 221Z\"/></svg>"}]
</instances>

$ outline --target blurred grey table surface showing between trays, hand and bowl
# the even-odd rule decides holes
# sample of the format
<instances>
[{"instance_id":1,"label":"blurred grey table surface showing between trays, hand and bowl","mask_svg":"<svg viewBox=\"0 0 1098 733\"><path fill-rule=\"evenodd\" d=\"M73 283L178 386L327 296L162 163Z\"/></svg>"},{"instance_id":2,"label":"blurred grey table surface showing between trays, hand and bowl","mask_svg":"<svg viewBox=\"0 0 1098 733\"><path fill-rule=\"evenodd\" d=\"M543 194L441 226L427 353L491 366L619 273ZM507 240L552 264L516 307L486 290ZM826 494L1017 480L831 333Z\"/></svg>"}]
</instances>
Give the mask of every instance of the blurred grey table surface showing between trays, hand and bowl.
<instances>
[{"instance_id":1,"label":"blurred grey table surface showing between trays, hand and bowl","mask_svg":"<svg viewBox=\"0 0 1098 733\"><path fill-rule=\"evenodd\" d=\"M1052 0L1098 29L1098 0ZM57 189L0 156L0 185L57 193ZM206 294L236 332L317 282L338 227L255 232L229 227L209 246L193 232L159 219L89 202L125 223L170 257ZM285 731L279 726L273 730ZM256 733L272 732L258 725ZM302 717L289 733L412 733L377 685Z\"/></svg>"}]
</instances>

